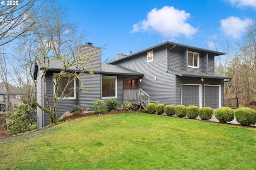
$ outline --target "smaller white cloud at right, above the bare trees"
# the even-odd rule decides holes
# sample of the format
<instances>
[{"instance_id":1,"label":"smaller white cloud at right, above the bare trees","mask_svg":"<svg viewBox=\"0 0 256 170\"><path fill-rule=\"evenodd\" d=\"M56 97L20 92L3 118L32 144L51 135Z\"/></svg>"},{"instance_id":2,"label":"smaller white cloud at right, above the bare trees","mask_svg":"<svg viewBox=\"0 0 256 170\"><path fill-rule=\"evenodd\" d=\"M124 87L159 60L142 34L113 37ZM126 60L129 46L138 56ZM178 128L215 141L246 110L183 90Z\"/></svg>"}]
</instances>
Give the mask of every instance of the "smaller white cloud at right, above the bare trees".
<instances>
[{"instance_id":1,"label":"smaller white cloud at right, above the bare trees","mask_svg":"<svg viewBox=\"0 0 256 170\"><path fill-rule=\"evenodd\" d=\"M226 35L237 38L240 37L249 21L249 19L241 20L238 17L230 16L227 19L220 20L221 25L219 30Z\"/></svg>"}]
</instances>

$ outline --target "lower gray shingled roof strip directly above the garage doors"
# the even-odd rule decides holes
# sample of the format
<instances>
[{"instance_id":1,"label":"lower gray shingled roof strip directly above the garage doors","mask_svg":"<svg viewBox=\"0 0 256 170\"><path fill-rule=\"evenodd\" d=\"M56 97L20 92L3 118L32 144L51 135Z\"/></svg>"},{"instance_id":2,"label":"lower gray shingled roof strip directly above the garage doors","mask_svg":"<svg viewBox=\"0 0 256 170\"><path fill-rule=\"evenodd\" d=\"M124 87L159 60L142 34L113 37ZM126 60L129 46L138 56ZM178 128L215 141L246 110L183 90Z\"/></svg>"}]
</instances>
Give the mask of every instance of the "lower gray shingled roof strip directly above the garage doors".
<instances>
[{"instance_id":1,"label":"lower gray shingled roof strip directly above the garage doors","mask_svg":"<svg viewBox=\"0 0 256 170\"><path fill-rule=\"evenodd\" d=\"M176 69L167 69L167 72L171 72L178 76L187 76L187 77L201 77L201 78L216 78L216 79L232 79L228 76L222 76L219 74L209 74L204 72L195 72L195 71L184 71L184 70L176 70Z\"/></svg>"}]
</instances>

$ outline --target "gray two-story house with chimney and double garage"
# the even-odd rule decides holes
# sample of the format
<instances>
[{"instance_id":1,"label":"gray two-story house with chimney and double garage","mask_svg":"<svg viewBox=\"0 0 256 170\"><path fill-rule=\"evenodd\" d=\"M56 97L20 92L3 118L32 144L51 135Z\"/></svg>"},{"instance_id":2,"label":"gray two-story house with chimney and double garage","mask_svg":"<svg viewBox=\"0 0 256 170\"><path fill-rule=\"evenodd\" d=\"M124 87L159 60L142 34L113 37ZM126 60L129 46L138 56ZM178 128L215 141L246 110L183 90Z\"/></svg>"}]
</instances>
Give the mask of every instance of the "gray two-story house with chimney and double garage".
<instances>
[{"instance_id":1,"label":"gray two-story house with chimney and double garage","mask_svg":"<svg viewBox=\"0 0 256 170\"><path fill-rule=\"evenodd\" d=\"M198 107L223 107L225 81L231 78L214 74L214 57L224 55L178 43L165 42L130 55L117 55L116 60L108 64L101 63L101 48L92 43L78 45L78 53L90 53L97 50L93 56L91 67L96 72L82 74L83 85L89 93L74 92L58 107L58 118L70 111L73 105L88 106L93 110L93 100L118 100L118 107L125 101L146 106L149 102L160 102L172 105L194 105ZM46 107L44 86L47 93L53 94L52 77L58 74L61 65L58 60L51 61L46 75L46 84L42 81L40 65L35 66L34 78L37 80L37 101ZM70 68L69 71L78 68ZM62 82L65 84L65 82ZM78 81L70 86L80 86ZM71 87L71 88L72 88ZM53 104L53 100L52 103ZM50 124L48 114L37 108L38 128Z\"/></svg>"}]
</instances>

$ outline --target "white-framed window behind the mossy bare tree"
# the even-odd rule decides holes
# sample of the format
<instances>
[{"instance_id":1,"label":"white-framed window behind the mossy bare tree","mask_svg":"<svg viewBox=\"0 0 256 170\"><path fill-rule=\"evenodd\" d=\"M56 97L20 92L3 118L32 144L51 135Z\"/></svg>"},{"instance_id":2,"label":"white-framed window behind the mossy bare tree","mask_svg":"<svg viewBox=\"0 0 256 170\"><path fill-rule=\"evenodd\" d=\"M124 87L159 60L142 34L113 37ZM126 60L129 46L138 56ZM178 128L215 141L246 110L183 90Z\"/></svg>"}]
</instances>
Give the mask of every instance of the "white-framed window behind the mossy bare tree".
<instances>
[{"instance_id":1,"label":"white-framed window behind the mossy bare tree","mask_svg":"<svg viewBox=\"0 0 256 170\"><path fill-rule=\"evenodd\" d=\"M54 76L57 76L58 73L54 73ZM63 98L65 99L76 99L76 80L69 77L62 77L60 79L59 85L58 85L58 96L62 95L63 92ZM68 84L68 86L66 87L67 83L70 82ZM54 83L56 83L56 80L54 80ZM64 91L66 87L66 90ZM53 85L53 90L55 93L55 85Z\"/></svg>"}]
</instances>

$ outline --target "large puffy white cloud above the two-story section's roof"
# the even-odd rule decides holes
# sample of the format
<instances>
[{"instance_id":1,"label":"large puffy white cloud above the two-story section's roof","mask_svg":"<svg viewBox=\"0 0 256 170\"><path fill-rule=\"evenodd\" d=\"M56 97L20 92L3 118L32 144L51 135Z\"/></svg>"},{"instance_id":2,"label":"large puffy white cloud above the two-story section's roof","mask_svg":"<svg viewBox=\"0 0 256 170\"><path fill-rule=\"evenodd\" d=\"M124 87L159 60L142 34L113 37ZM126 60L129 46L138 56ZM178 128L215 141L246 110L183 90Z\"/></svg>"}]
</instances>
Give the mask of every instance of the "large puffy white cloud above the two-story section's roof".
<instances>
[{"instance_id":1,"label":"large puffy white cloud above the two-story section's roof","mask_svg":"<svg viewBox=\"0 0 256 170\"><path fill-rule=\"evenodd\" d=\"M186 23L189 18L189 13L184 10L177 10L173 6L164 6L162 9L154 8L148 12L147 19L134 24L130 32L149 31L158 32L168 38L180 35L191 38L198 31L198 28Z\"/></svg>"}]
</instances>

